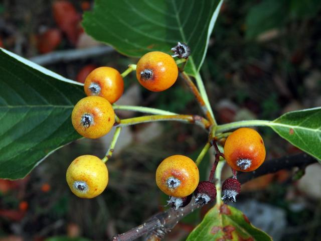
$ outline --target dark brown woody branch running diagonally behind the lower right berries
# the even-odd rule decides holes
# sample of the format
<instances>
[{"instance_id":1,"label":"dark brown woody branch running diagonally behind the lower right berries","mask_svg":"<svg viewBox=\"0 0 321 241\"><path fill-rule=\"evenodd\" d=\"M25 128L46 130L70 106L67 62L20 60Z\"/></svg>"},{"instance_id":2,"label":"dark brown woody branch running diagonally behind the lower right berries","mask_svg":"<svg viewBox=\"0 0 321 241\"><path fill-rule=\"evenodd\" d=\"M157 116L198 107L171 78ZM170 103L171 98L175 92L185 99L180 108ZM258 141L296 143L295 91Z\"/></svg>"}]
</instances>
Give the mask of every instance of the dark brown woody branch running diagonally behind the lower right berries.
<instances>
[{"instance_id":1,"label":"dark brown woody branch running diagonally behind the lower right berries","mask_svg":"<svg viewBox=\"0 0 321 241\"><path fill-rule=\"evenodd\" d=\"M309 164L315 163L317 160L305 153L293 156L285 156L270 161L266 161L262 166L253 172L242 172L238 174L238 180L241 184L248 182L254 178L260 177L268 173L275 173L282 169L292 169L293 167L304 168ZM146 240L161 240L174 226L187 214L199 208L194 204L194 198L191 203L184 208L178 210L168 209L164 212L157 213L149 218L145 223L131 230L118 234L113 237L113 241L130 241L144 234L149 234Z\"/></svg>"}]
</instances>

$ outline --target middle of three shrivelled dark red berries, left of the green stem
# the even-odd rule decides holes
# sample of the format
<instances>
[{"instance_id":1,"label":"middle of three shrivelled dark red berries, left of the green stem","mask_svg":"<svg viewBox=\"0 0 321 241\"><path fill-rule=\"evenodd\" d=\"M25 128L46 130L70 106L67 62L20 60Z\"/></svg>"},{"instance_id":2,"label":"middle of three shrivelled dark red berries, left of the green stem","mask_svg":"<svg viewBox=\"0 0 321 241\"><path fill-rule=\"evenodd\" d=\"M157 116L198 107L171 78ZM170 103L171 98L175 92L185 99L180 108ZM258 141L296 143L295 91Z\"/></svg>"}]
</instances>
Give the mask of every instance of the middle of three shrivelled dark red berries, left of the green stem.
<instances>
[{"instance_id":1,"label":"middle of three shrivelled dark red berries, left of the green stem","mask_svg":"<svg viewBox=\"0 0 321 241\"><path fill-rule=\"evenodd\" d=\"M205 205L211 203L216 198L216 186L214 183L209 181L202 181L199 183L194 191L195 204Z\"/></svg>"}]
</instances>

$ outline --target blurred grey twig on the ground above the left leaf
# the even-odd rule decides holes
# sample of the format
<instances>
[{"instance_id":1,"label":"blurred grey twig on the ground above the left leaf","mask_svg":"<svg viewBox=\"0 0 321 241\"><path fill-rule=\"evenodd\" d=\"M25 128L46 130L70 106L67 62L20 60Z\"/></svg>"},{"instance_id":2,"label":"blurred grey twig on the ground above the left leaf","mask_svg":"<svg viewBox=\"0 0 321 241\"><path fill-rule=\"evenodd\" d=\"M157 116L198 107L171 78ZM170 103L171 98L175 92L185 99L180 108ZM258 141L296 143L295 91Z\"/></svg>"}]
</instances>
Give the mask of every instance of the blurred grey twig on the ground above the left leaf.
<instances>
[{"instance_id":1,"label":"blurred grey twig on the ground above the left leaf","mask_svg":"<svg viewBox=\"0 0 321 241\"><path fill-rule=\"evenodd\" d=\"M113 52L109 46L95 46L86 49L59 50L49 54L31 57L29 60L39 65L49 65L58 62L70 62L79 59L97 57Z\"/></svg>"}]
</instances>

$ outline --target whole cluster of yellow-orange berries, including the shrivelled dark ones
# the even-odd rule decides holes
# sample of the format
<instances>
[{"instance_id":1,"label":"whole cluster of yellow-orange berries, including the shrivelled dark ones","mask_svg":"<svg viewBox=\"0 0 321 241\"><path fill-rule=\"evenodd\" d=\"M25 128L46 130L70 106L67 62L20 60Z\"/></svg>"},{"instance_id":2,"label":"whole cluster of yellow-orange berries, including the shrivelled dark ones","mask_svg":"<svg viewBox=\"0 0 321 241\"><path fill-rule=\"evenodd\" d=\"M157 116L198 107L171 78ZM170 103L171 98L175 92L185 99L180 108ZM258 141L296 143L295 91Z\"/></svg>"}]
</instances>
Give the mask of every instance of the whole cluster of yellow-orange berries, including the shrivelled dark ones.
<instances>
[{"instance_id":1,"label":"whole cluster of yellow-orange berries, including the shrivelled dark ones","mask_svg":"<svg viewBox=\"0 0 321 241\"><path fill-rule=\"evenodd\" d=\"M179 58L188 58L190 53L188 46L181 43L172 50L174 57ZM145 54L136 65L137 80L151 91L163 91L171 87L177 80L178 71L174 58L158 51ZM110 67L99 67L87 76L84 83L87 97L75 105L71 115L72 124L80 135L99 138L115 125L118 118L112 104L123 93L124 76ZM253 171L265 159L263 140L253 129L240 128L226 139L224 157L235 173ZM108 170L103 160L84 155L70 164L66 179L75 195L93 198L104 191L108 184ZM213 202L216 198L216 186L212 180L200 182L197 165L183 155L166 158L157 167L155 179L159 189L170 196L168 203L175 209L190 203L193 193L197 205ZM225 180L222 184L223 201L235 201L240 189L236 175Z\"/></svg>"}]
</instances>

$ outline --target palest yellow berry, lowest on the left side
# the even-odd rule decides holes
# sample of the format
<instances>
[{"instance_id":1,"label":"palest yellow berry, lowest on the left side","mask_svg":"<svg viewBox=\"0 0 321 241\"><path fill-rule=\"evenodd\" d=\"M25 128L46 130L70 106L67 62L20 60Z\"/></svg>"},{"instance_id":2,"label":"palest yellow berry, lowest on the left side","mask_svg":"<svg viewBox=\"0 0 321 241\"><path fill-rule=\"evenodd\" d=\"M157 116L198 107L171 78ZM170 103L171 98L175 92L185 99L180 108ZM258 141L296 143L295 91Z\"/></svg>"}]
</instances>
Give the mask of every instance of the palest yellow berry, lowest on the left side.
<instances>
[{"instance_id":1,"label":"palest yellow berry, lowest on the left side","mask_svg":"<svg viewBox=\"0 0 321 241\"><path fill-rule=\"evenodd\" d=\"M69 165L66 180L76 196L93 198L105 190L108 184L108 170L98 157L84 155L77 157Z\"/></svg>"}]
</instances>

